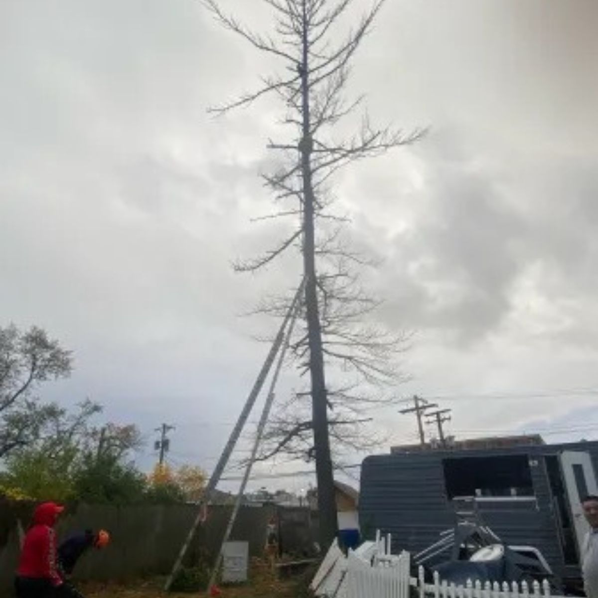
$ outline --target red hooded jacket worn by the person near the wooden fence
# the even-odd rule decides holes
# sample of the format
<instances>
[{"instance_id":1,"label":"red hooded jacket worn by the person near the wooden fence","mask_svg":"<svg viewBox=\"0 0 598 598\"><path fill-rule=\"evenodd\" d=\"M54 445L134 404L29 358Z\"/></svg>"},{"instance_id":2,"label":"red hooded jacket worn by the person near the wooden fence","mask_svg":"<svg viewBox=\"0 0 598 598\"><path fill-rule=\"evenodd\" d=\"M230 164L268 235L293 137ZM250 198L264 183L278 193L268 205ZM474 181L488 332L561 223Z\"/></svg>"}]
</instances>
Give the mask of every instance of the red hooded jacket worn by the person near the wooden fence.
<instances>
[{"instance_id":1,"label":"red hooded jacket worn by the person near the wooden fence","mask_svg":"<svg viewBox=\"0 0 598 598\"><path fill-rule=\"evenodd\" d=\"M48 579L60 585L62 579L56 569L56 533L54 524L63 507L54 502L44 502L35 509L33 525L23 542L17 575Z\"/></svg>"}]
</instances>

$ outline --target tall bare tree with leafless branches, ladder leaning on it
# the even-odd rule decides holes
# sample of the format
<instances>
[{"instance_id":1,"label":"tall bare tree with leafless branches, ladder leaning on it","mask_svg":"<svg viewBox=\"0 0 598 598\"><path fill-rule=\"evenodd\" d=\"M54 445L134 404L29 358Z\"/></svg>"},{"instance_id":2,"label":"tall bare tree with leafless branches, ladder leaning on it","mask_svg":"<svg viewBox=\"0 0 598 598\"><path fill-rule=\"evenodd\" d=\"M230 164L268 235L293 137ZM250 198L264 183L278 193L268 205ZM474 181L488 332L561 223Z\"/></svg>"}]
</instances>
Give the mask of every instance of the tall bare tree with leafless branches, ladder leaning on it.
<instances>
[{"instance_id":1,"label":"tall bare tree with leafless branches, ladder leaning on it","mask_svg":"<svg viewBox=\"0 0 598 598\"><path fill-rule=\"evenodd\" d=\"M292 452L305 444L306 452L315 457L321 541L328 545L336 526L329 435L359 422L355 417L349 421L338 415L329 419L328 411L334 402L350 404L352 387L339 390L336 395L328 393L325 362L338 362L341 368L355 371L366 382L388 381L391 372L386 365L396 352L397 340L400 341L355 326L372 309L373 301L355 289L355 280L347 268L359 264L361 258L347 250L334 228L342 218L329 210L333 199L331 177L355 160L410 144L423 132L404 134L389 128L377 129L364 117L355 135L345 139L335 135L338 123L361 103L361 98L349 102L344 97L349 65L384 0L373 0L370 9L344 35L336 29L349 16L354 0L263 2L273 11L271 35L250 30L234 16L228 16L215 0L204 0L225 28L257 50L277 57L286 67L283 75L263 78L263 85L257 90L212 111L225 114L249 106L267 94L279 96L286 108L283 123L289 125L291 133L285 141L270 141L268 145L279 152L282 165L263 178L278 205L289 203L289 207L285 204L269 218L296 218L297 227L271 251L238 264L237 269L260 269L290 248L298 248L303 257L305 328L293 349L301 360L300 367L310 374L312 413L309 419L273 422L269 437L278 443L273 447L275 451ZM276 311L276 305L269 309ZM313 444L309 440L312 434Z\"/></svg>"}]
</instances>

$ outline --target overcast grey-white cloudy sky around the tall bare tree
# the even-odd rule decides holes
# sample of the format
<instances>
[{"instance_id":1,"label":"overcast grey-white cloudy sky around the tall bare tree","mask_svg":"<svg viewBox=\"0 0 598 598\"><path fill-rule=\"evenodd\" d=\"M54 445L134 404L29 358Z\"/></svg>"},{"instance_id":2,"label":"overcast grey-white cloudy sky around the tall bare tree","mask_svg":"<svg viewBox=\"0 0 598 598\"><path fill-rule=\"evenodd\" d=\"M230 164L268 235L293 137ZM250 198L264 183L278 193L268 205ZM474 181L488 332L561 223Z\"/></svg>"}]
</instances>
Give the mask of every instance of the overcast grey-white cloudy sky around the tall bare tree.
<instances>
[{"instance_id":1,"label":"overcast grey-white cloudy sky around the tall bare tree","mask_svg":"<svg viewBox=\"0 0 598 598\"><path fill-rule=\"evenodd\" d=\"M261 4L222 2L267 27ZM376 317L415 334L397 396L453 408L460 437L598 437L597 19L594 0L388 0L355 60L374 120L431 130L339 176L339 209L383 260ZM206 114L276 66L196 0L0 2L0 325L74 350L45 398L90 396L148 440L176 425L175 463L213 465L273 325L241 314L297 282L298 263L230 267L277 238L250 222L276 103ZM376 425L414 440L396 410Z\"/></svg>"}]
</instances>

